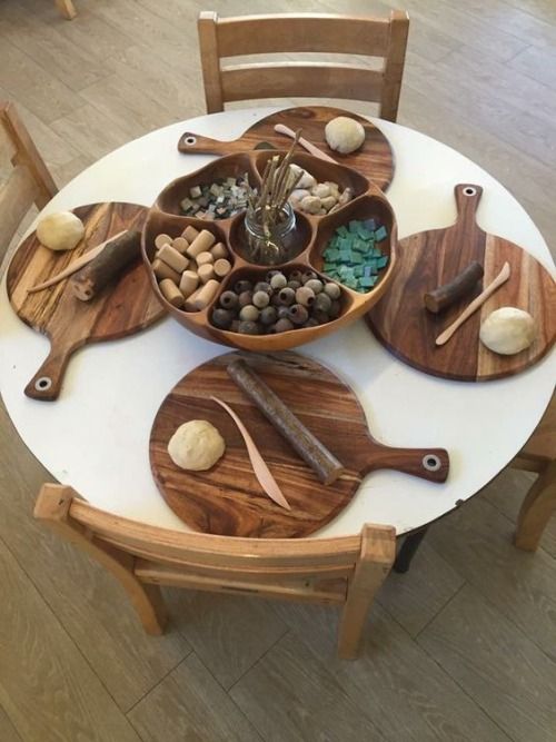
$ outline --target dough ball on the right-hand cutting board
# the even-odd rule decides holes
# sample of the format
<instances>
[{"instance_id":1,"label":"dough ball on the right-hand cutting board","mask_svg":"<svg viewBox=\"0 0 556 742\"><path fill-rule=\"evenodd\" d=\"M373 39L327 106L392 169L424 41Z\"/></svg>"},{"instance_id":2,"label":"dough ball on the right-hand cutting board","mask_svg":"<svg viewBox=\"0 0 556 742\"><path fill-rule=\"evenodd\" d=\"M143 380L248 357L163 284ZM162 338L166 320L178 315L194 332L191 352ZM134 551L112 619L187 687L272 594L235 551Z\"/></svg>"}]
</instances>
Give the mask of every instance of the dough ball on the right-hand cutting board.
<instances>
[{"instance_id":1,"label":"dough ball on the right-hand cutting board","mask_svg":"<svg viewBox=\"0 0 556 742\"><path fill-rule=\"evenodd\" d=\"M528 311L516 307L496 309L480 326L483 345L504 356L512 356L528 348L535 339L535 320Z\"/></svg>"}]
</instances>

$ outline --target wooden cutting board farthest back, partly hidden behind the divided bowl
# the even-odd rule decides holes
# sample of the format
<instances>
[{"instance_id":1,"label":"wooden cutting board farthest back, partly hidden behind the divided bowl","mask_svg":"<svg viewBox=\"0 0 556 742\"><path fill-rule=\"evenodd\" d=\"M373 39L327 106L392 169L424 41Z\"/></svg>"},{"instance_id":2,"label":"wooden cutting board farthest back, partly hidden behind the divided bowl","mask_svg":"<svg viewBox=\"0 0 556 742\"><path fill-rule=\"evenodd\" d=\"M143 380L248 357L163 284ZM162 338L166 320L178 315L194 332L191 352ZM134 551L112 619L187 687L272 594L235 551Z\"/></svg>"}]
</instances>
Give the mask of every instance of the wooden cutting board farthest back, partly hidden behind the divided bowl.
<instances>
[{"instance_id":1,"label":"wooden cutting board farthest back, partly hidden behind the divided bowl","mask_svg":"<svg viewBox=\"0 0 556 742\"><path fill-rule=\"evenodd\" d=\"M351 155L340 155L331 150L325 139L325 126L337 116L348 116L360 121L365 128L365 144ZM390 185L394 178L394 152L390 144L377 127L357 113L342 111L338 108L324 106L308 106L307 108L288 108L267 116L254 123L239 139L219 141L201 137L192 131L186 131L178 142L180 152L232 155L255 149L261 142L267 142L277 149L289 149L291 139L276 133L275 125L285 123L296 131L302 129L301 136L316 145L324 152L334 157L341 165L359 170L373 180L381 190Z\"/></svg>"}]
</instances>

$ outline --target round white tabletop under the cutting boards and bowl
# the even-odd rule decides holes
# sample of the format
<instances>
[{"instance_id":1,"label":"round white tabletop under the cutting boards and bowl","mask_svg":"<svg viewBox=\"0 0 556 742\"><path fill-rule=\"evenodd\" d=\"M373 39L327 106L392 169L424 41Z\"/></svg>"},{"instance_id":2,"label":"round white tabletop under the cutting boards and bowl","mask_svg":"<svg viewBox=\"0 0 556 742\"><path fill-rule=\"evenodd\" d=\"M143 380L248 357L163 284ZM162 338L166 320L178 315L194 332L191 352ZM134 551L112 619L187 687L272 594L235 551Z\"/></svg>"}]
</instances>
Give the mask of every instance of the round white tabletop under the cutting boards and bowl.
<instances>
[{"instance_id":1,"label":"round white tabletop under the cutting boards and bowl","mask_svg":"<svg viewBox=\"0 0 556 742\"><path fill-rule=\"evenodd\" d=\"M203 116L136 139L89 167L43 214L81 204L119 200L150 205L176 177L211 157L180 155L185 130L235 139L277 109ZM374 120L374 119L371 119ZM374 122L389 138L396 174L388 189L400 237L455 220L457 182L485 192L478 222L526 247L554 275L554 263L535 225L493 177L455 150L411 129ZM187 531L159 494L149 467L155 414L190 369L229 348L188 333L167 317L123 340L88 345L71 359L60 398L29 399L23 388L46 358L47 338L18 319L0 291L0 389L22 439L63 484L91 504L151 525ZM370 474L350 505L318 536L346 535L363 523L390 524L399 534L423 526L477 493L515 456L540 419L556 378L556 353L515 377L483 384L448 382L397 360L363 320L297 352L319 359L356 390L379 441L448 449L443 485L397 472Z\"/></svg>"}]
</instances>

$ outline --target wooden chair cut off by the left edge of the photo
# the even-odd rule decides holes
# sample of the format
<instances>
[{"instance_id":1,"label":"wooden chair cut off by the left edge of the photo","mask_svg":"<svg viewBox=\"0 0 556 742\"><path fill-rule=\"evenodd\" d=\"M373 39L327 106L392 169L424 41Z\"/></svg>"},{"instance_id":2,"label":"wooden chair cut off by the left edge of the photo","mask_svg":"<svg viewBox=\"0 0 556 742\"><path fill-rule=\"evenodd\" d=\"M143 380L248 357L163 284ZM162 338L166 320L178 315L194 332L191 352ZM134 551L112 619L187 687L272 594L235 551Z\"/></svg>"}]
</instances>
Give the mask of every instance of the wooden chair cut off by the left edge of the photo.
<instances>
[{"instance_id":1,"label":"wooden chair cut off by the left edge of the photo","mask_svg":"<svg viewBox=\"0 0 556 742\"><path fill-rule=\"evenodd\" d=\"M0 182L1 261L33 202L41 209L58 188L13 103L3 101L0 101L0 155L13 166L8 178Z\"/></svg>"}]
</instances>

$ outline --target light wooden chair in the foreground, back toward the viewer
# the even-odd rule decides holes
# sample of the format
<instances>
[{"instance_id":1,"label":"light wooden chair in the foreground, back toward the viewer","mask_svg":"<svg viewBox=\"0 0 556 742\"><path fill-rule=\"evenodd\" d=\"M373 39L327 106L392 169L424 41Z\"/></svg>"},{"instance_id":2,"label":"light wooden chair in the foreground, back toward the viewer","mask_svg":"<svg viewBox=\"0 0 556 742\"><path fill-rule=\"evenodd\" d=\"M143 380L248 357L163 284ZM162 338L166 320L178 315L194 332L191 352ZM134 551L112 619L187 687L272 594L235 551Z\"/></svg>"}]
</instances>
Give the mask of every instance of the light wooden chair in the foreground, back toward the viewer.
<instances>
[{"instance_id":1,"label":"light wooden chair in the foreground, back toward the viewer","mask_svg":"<svg viewBox=\"0 0 556 742\"><path fill-rule=\"evenodd\" d=\"M365 619L394 562L396 533L365 525L341 538L231 538L157 528L110 515L68 486L46 484L34 517L120 581L145 630L161 634L159 585L341 605L338 654L357 655Z\"/></svg>"}]
</instances>

